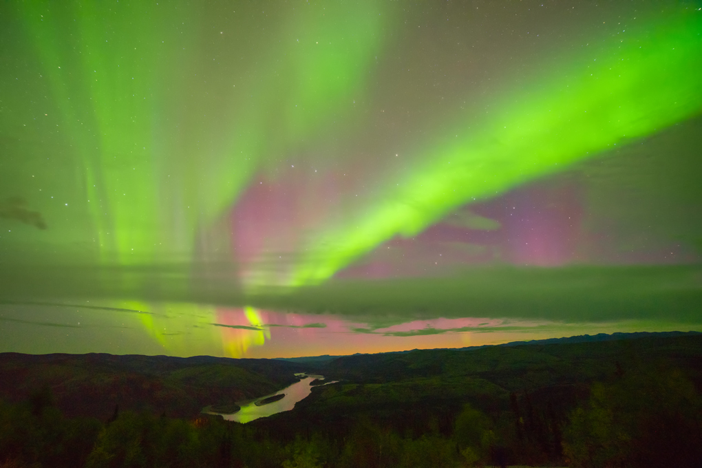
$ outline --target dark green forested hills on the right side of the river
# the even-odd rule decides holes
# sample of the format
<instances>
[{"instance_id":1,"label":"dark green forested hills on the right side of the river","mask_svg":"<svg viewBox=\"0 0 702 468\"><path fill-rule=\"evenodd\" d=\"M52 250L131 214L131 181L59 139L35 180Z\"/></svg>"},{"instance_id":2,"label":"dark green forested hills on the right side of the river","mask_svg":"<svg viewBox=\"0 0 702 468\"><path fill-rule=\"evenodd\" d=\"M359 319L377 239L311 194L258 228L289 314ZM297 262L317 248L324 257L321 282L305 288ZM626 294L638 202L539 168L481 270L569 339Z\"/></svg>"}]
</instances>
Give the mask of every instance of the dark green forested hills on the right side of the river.
<instances>
[{"instance_id":1,"label":"dark green forested hills on the right side of the river","mask_svg":"<svg viewBox=\"0 0 702 468\"><path fill-rule=\"evenodd\" d=\"M508 426L528 413L535 434L552 431L556 440L553 428L588 399L594 382L658 370L679 370L701 392L702 335L344 356L320 370L341 382L314 387L292 411L252 424L342 434L367 418L418 436L450 432L468 403Z\"/></svg>"}]
</instances>

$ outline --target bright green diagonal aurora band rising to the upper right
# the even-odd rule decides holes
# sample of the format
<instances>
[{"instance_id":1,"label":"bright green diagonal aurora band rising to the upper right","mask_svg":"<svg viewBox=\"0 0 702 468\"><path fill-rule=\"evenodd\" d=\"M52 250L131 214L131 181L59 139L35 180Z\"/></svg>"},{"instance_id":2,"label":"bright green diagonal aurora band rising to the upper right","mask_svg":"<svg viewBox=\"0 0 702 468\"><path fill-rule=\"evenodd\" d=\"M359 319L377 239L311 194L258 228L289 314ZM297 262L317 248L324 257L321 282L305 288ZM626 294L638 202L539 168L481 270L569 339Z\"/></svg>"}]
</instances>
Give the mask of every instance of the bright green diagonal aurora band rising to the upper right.
<instances>
[{"instance_id":1,"label":"bright green diagonal aurora band rising to the upper right","mask_svg":"<svg viewBox=\"0 0 702 468\"><path fill-rule=\"evenodd\" d=\"M378 203L307 244L289 284L316 284L392 236L413 236L448 210L561 171L702 110L702 16L649 18L623 40L548 67L502 94L388 183ZM468 130L470 128L470 130ZM456 138L451 138L453 135ZM395 183L392 183L395 182Z\"/></svg>"}]
</instances>

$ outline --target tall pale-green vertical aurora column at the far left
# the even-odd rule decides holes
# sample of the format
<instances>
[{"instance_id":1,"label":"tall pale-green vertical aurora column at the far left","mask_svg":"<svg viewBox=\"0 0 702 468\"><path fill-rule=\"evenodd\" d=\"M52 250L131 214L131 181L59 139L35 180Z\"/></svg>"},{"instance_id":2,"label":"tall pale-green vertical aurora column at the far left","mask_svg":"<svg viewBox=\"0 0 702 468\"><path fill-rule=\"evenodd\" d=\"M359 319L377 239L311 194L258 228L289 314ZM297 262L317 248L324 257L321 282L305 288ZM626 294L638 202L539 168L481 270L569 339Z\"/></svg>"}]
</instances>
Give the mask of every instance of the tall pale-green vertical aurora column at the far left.
<instances>
[{"instance_id":1,"label":"tall pale-green vertical aurora column at the far left","mask_svg":"<svg viewBox=\"0 0 702 468\"><path fill-rule=\"evenodd\" d=\"M154 6L75 1L22 8L62 114L64 138L74 148L99 260L152 260L166 228L154 203L153 140L159 66L168 62L156 41L145 38L145 32L164 33L150 25Z\"/></svg>"}]
</instances>

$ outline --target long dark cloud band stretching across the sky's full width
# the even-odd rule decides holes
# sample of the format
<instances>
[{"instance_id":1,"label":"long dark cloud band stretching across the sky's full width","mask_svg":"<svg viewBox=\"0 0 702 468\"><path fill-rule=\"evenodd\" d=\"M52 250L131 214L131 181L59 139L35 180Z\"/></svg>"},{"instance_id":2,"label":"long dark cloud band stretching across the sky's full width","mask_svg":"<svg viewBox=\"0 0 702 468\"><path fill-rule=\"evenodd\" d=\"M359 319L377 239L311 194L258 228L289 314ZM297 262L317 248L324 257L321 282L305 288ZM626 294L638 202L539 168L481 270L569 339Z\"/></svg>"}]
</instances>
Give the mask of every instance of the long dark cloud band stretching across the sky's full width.
<instances>
[{"instance_id":1,"label":"long dark cloud band stretching across the sky's full width","mask_svg":"<svg viewBox=\"0 0 702 468\"><path fill-rule=\"evenodd\" d=\"M131 286L143 284L150 287ZM702 319L702 265L482 267L443 278L332 280L320 286L262 287L255 295L245 295L235 285L226 275L193 278L192 269L180 265L0 265L0 298L5 302L25 303L22 298L31 297L37 303L45 298L48 304L62 298L89 297L252 306L336 314L368 323L373 329L420 319L468 316L570 323L623 319L696 323Z\"/></svg>"}]
</instances>

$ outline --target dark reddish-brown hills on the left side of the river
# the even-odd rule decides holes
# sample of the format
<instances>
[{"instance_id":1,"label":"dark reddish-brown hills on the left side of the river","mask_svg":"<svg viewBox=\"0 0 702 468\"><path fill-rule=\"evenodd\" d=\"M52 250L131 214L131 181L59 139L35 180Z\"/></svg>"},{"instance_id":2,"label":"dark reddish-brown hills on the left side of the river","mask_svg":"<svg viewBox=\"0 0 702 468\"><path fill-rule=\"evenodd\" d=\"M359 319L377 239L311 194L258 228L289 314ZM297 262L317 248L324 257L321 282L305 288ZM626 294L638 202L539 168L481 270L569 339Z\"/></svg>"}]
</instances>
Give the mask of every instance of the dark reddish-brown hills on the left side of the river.
<instances>
[{"instance_id":1,"label":"dark reddish-brown hills on the left side of the river","mask_svg":"<svg viewBox=\"0 0 702 468\"><path fill-rule=\"evenodd\" d=\"M0 398L21 401L48 386L67 415L105 419L120 410L192 417L211 404L275 392L304 370L270 359L112 354L0 354Z\"/></svg>"}]
</instances>

